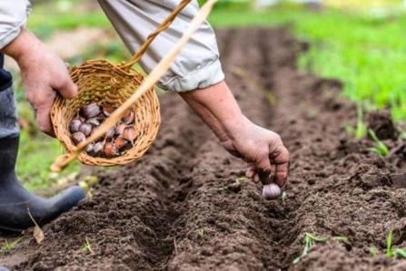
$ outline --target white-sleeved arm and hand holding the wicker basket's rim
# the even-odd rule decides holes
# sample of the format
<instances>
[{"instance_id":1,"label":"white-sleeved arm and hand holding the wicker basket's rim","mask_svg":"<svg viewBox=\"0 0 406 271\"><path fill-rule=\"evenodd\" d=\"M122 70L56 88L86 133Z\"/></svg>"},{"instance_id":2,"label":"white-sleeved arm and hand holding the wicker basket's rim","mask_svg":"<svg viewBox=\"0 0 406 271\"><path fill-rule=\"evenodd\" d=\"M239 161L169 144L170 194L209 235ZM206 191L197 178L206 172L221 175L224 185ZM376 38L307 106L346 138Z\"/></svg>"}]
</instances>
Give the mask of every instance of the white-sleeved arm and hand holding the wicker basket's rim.
<instances>
[{"instance_id":1,"label":"white-sleeved arm and hand holding the wicker basket's rim","mask_svg":"<svg viewBox=\"0 0 406 271\"><path fill-rule=\"evenodd\" d=\"M72 98L77 88L64 62L25 29L28 0L0 1L0 53L18 63L27 100L33 105L42 131L54 135L50 110L55 92Z\"/></svg>"}]
</instances>

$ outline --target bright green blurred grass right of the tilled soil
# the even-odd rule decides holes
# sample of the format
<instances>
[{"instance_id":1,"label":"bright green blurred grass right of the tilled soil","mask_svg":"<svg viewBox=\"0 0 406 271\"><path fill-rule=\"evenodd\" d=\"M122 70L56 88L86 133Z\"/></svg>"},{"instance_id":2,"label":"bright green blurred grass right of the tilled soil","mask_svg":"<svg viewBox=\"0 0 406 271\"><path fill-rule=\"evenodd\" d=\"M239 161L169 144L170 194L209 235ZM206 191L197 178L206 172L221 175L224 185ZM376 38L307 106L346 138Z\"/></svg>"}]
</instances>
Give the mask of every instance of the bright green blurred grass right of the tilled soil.
<instances>
[{"instance_id":1,"label":"bright green blurred grass right of the tilled soil","mask_svg":"<svg viewBox=\"0 0 406 271\"><path fill-rule=\"evenodd\" d=\"M391 107L395 120L406 120L406 15L320 13L297 6L261 12L218 9L210 21L217 28L284 24L311 44L302 53L302 70L344 82L343 93L368 109Z\"/></svg>"}]
</instances>

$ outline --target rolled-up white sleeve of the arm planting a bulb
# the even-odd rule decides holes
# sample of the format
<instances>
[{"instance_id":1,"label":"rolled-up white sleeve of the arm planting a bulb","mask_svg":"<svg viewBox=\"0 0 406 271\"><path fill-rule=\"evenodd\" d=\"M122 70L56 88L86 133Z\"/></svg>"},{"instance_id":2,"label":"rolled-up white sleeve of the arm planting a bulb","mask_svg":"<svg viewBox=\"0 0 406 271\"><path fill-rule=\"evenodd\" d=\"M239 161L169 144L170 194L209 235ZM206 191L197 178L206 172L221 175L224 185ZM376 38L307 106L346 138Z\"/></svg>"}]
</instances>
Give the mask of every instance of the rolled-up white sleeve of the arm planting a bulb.
<instances>
[{"instance_id":1,"label":"rolled-up white sleeve of the arm planting a bulb","mask_svg":"<svg viewBox=\"0 0 406 271\"><path fill-rule=\"evenodd\" d=\"M115 30L132 53L144 43L164 18L179 5L180 0L98 0ZM197 1L187 5L173 24L159 34L140 60L145 72L153 67L182 37L194 15L199 10ZM212 26L204 22L159 85L164 90L187 92L206 88L224 79L219 51Z\"/></svg>"}]
</instances>

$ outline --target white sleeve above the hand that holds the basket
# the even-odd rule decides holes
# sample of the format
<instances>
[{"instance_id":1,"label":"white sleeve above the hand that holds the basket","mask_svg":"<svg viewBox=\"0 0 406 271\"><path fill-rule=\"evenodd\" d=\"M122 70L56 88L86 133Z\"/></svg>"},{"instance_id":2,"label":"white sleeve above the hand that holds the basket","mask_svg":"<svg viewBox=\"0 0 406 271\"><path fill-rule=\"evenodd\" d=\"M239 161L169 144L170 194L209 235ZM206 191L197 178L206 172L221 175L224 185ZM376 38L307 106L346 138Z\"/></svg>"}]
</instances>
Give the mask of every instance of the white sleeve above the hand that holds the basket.
<instances>
[{"instance_id":1,"label":"white sleeve above the hand that holds the basket","mask_svg":"<svg viewBox=\"0 0 406 271\"><path fill-rule=\"evenodd\" d=\"M28 0L0 1L0 49L20 34L30 10Z\"/></svg>"}]
</instances>

